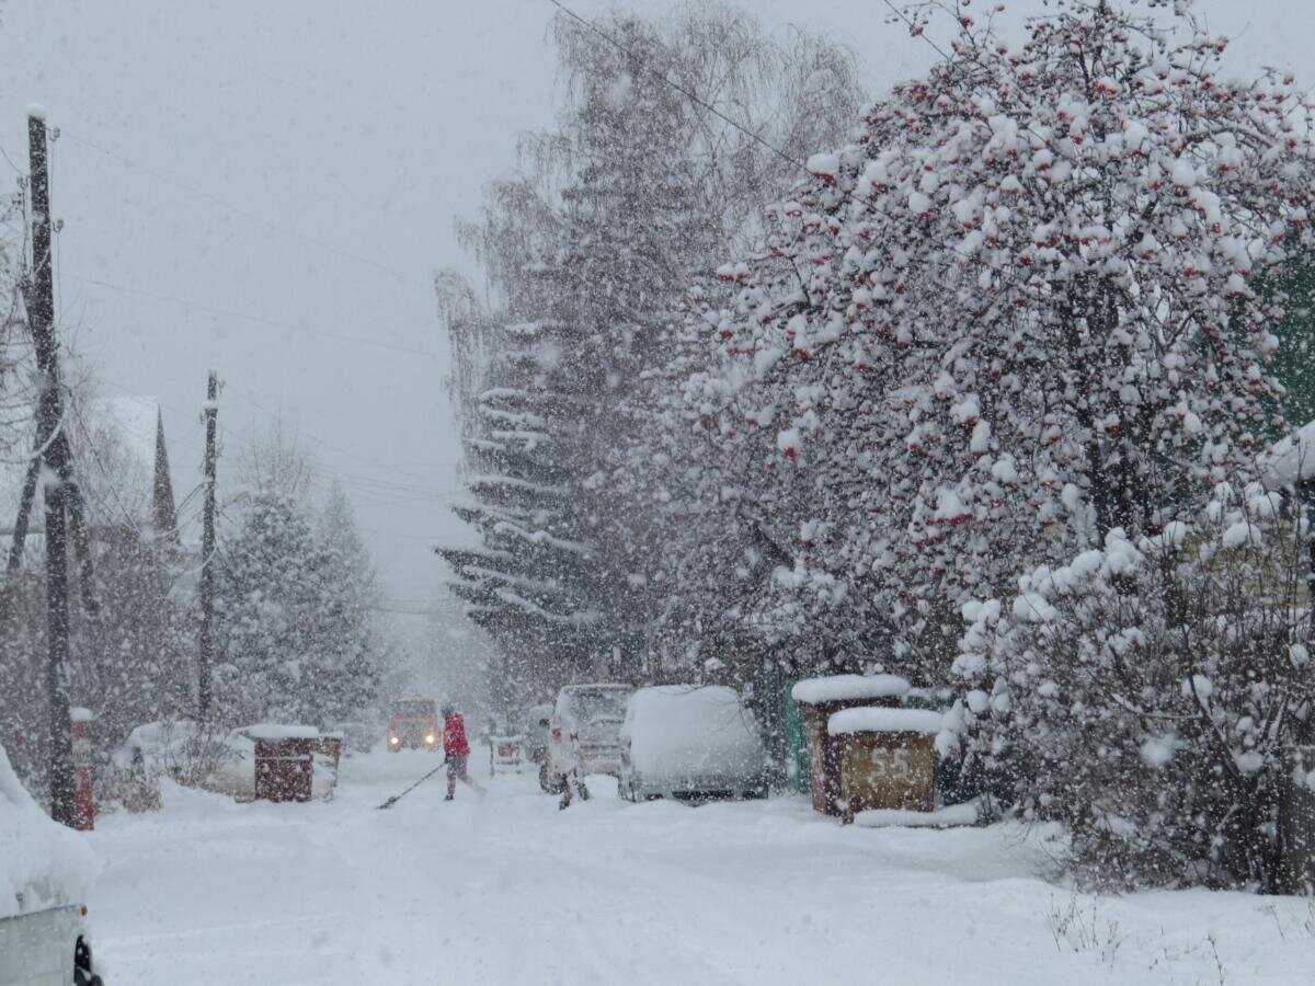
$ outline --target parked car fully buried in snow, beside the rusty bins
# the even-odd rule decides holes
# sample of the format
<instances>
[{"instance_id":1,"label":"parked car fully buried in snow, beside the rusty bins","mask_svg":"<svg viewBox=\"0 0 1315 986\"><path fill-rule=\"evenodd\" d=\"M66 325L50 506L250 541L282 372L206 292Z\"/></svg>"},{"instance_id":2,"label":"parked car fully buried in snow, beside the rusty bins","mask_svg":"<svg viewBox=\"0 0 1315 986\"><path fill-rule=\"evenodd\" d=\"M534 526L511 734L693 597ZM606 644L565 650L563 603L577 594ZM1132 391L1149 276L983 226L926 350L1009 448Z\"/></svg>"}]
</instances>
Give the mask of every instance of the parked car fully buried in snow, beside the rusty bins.
<instances>
[{"instance_id":1,"label":"parked car fully buried in snow, beside the rusty bins","mask_svg":"<svg viewBox=\"0 0 1315 986\"><path fill-rule=\"evenodd\" d=\"M765 798L767 753L753 714L725 685L654 685L626 705L621 797Z\"/></svg>"}]
</instances>

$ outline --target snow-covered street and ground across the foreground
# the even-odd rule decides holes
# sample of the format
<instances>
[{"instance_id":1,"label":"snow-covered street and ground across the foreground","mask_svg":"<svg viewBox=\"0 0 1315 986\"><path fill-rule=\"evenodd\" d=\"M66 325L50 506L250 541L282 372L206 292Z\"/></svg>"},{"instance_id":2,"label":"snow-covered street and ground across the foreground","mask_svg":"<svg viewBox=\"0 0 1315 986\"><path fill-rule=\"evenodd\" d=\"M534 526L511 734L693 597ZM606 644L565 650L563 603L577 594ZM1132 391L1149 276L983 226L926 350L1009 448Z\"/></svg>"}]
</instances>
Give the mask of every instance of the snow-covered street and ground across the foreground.
<instances>
[{"instance_id":1,"label":"snow-covered street and ground across the foreground","mask_svg":"<svg viewBox=\"0 0 1315 986\"><path fill-rule=\"evenodd\" d=\"M479 751L472 764L483 765ZM529 774L480 801L437 761L345 763L338 797L171 789L92 836L109 983L1308 983L1297 899L1074 897L1020 830L842 828L802 798L567 811ZM484 770L477 772L487 773ZM480 778L489 782L487 777Z\"/></svg>"}]
</instances>

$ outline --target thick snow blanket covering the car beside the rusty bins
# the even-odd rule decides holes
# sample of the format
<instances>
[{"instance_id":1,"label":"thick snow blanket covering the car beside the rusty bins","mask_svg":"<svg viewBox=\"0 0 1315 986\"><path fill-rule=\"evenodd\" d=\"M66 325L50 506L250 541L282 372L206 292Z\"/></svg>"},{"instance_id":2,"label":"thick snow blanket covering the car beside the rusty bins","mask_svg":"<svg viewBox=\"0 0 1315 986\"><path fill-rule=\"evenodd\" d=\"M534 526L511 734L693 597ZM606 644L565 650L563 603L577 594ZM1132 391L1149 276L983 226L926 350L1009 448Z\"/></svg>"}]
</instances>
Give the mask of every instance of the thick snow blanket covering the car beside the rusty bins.
<instances>
[{"instance_id":1,"label":"thick snow blanket covering the car beside the rusty bins","mask_svg":"<svg viewBox=\"0 0 1315 986\"><path fill-rule=\"evenodd\" d=\"M725 685L655 685L630 697L622 736L646 778L742 777L763 769L752 714Z\"/></svg>"}]
</instances>

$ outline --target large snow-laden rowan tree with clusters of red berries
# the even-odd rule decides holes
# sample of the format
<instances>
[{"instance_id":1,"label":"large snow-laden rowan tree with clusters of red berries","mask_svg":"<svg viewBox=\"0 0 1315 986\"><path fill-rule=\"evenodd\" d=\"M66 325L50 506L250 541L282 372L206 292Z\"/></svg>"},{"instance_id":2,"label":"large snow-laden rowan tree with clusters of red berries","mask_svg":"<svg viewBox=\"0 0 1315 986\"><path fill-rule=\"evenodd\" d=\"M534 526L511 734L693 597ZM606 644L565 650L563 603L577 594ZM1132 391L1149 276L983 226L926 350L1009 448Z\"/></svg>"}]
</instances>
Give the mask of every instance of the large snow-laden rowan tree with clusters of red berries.
<instances>
[{"instance_id":1,"label":"large snow-laden rowan tree with clusters of red berries","mask_svg":"<svg viewBox=\"0 0 1315 986\"><path fill-rule=\"evenodd\" d=\"M1010 45L949 4L952 57L809 159L692 380L746 500L839 642L876 617L943 676L956 605L1153 532L1245 471L1308 241L1308 106L1219 72L1226 41L1061 1Z\"/></svg>"}]
</instances>

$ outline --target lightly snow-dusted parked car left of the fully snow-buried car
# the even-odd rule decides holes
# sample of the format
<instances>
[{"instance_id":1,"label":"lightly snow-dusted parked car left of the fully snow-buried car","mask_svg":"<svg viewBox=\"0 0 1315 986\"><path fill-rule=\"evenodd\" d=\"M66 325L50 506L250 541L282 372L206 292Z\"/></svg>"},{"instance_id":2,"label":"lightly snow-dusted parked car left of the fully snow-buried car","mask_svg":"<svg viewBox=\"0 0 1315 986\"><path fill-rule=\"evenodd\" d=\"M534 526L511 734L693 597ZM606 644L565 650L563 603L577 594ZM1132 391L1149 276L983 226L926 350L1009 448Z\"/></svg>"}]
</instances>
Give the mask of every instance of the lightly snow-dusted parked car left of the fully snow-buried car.
<instances>
[{"instance_id":1,"label":"lightly snow-dusted parked car left of the fully snow-buried car","mask_svg":"<svg viewBox=\"0 0 1315 986\"><path fill-rule=\"evenodd\" d=\"M548 719L548 745L539 766L539 786L565 790L567 776L621 774L621 722L630 685L567 685Z\"/></svg>"}]
</instances>

